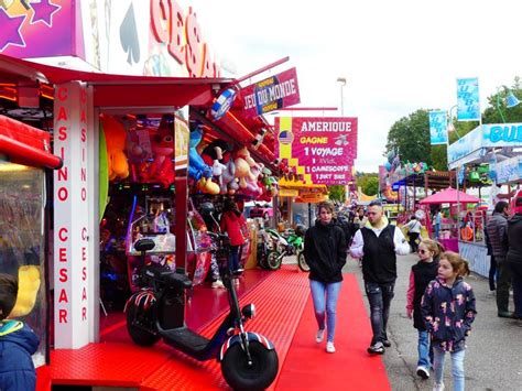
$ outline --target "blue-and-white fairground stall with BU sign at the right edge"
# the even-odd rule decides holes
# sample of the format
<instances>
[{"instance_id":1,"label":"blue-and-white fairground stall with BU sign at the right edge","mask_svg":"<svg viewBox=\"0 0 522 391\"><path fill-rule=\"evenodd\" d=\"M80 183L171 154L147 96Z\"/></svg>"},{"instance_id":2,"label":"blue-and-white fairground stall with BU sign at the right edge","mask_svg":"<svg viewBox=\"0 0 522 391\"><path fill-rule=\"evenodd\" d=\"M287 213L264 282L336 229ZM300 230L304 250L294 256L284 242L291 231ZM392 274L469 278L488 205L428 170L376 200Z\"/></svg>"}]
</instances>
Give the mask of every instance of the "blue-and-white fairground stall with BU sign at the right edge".
<instances>
[{"instance_id":1,"label":"blue-and-white fairground stall with BU sign at the right edge","mask_svg":"<svg viewBox=\"0 0 522 391\"><path fill-rule=\"evenodd\" d=\"M487 170L491 180L487 207L481 203L460 216L465 229L460 232L465 235L460 236L460 253L471 261L475 272L485 276L488 275L490 260L483 233L477 227L487 225L496 202L509 202L510 195L515 193L520 184L521 146L522 123L481 124L448 146L448 167L457 171L460 184L467 171L480 177Z\"/></svg>"}]
</instances>

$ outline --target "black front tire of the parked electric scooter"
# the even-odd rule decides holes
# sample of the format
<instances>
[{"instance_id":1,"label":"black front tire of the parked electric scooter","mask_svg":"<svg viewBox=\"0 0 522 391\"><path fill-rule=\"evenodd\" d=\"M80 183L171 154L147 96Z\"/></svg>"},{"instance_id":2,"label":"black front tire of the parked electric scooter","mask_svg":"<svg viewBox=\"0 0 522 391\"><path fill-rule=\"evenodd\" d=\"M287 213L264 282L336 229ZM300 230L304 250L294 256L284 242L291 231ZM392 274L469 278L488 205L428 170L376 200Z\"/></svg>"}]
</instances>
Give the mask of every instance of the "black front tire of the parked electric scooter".
<instances>
[{"instance_id":1,"label":"black front tire of the parked electric scooter","mask_svg":"<svg viewBox=\"0 0 522 391\"><path fill-rule=\"evenodd\" d=\"M278 354L261 343L249 344L252 365L248 365L241 344L231 346L221 361L221 373L233 390L264 390L274 381L279 370Z\"/></svg>"}]
</instances>

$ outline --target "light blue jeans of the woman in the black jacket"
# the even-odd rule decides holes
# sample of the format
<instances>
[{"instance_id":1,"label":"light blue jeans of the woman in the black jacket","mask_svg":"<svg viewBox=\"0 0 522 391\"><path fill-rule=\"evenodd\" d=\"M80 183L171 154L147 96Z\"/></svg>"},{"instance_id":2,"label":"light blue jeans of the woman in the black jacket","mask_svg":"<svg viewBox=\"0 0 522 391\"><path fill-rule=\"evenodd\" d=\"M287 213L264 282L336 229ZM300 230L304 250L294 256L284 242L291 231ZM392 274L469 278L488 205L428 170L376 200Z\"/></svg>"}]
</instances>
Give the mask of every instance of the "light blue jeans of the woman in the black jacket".
<instances>
[{"instance_id":1,"label":"light blue jeans of the woman in the black jacket","mask_svg":"<svg viewBox=\"0 0 522 391\"><path fill-rule=\"evenodd\" d=\"M341 284L341 282L334 282L327 284L324 282L309 280L309 287L312 291L312 300L314 301L314 311L315 318L317 319L317 326L322 330L325 329L326 315L326 340L328 343L334 341L337 297L339 297Z\"/></svg>"}]
</instances>

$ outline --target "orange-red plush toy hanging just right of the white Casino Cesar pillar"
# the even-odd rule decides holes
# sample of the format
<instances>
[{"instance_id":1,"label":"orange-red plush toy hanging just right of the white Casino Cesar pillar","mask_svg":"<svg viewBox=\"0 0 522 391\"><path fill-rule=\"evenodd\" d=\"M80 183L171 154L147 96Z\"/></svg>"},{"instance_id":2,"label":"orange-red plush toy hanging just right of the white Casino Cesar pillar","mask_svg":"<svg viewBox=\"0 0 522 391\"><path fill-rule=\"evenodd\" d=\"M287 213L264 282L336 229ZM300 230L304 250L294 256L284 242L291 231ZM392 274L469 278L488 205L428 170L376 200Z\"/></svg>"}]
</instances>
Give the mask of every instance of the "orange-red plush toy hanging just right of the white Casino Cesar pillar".
<instances>
[{"instance_id":1,"label":"orange-red plush toy hanging just right of the white Casino Cesar pillar","mask_svg":"<svg viewBox=\"0 0 522 391\"><path fill-rule=\"evenodd\" d=\"M123 152L127 131L123 124L111 116L102 115L100 123L107 145L109 181L124 180L129 176L129 163Z\"/></svg>"}]
</instances>

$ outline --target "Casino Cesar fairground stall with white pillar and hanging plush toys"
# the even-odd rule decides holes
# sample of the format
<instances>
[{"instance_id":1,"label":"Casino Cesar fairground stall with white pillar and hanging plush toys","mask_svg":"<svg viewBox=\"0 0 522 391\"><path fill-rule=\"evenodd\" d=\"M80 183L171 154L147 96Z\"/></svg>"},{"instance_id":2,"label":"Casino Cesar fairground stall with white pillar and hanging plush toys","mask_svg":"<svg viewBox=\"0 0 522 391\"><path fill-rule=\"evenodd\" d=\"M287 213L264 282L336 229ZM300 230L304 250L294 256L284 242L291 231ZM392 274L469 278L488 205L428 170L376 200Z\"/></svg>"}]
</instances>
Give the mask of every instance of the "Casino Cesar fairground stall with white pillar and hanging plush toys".
<instances>
[{"instance_id":1,"label":"Casino Cesar fairground stall with white pillar and hanging plush toys","mask_svg":"<svg viewBox=\"0 0 522 391\"><path fill-rule=\"evenodd\" d=\"M64 163L50 186L54 224L44 242L53 249L48 262L54 276L52 377L54 383L91 384L87 378L78 379L90 374L78 372L74 351L124 329L121 309L135 290L140 267L135 241L152 239L152 261L181 269L195 284L203 283L209 268L205 251L209 228L202 205L210 200L218 209L226 196L238 202L271 198L276 194L279 167L273 133L258 110L262 105L254 105L255 115L246 113L247 98L238 94L238 79L219 77L200 35L197 41L183 35L182 42L170 42L165 23L172 12L154 1L133 4L135 9L128 2L108 2L99 10L85 7L86 2L56 3L47 14L48 34L56 46L40 42L35 31L42 23L23 24L20 34L25 34L26 46L8 44L1 50L37 57L40 63L0 54L0 69L31 75L21 82L1 82L7 84L2 93L23 91L36 101L45 94L51 101L50 110L36 112L15 97L10 109L18 111L10 113L23 112L29 119L43 116L54 134L45 148L52 145ZM7 11L19 10L8 7ZM35 22L40 11L29 8L26 20ZM144 18L138 21L135 14ZM180 8L176 15L180 34L187 34L187 25L199 32L192 10L185 13ZM122 23L133 28L118 33ZM63 29L70 25L76 26L73 33L65 34ZM191 50L194 56L176 56L176 48ZM290 76L272 77L272 84L293 87L285 89L285 98L298 91L292 76L295 69ZM281 88L275 107L284 104ZM3 99L2 106L4 100L9 101ZM198 322L208 322L220 309L213 311L203 311ZM116 312L119 318L110 316ZM96 349L89 351L99 358L102 352ZM106 373L104 368L110 366L97 362L89 370L105 373L98 384L121 385L117 380L121 373ZM140 384L140 373L127 376L135 378L130 385Z\"/></svg>"}]
</instances>

